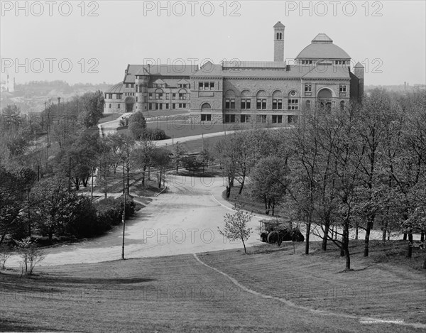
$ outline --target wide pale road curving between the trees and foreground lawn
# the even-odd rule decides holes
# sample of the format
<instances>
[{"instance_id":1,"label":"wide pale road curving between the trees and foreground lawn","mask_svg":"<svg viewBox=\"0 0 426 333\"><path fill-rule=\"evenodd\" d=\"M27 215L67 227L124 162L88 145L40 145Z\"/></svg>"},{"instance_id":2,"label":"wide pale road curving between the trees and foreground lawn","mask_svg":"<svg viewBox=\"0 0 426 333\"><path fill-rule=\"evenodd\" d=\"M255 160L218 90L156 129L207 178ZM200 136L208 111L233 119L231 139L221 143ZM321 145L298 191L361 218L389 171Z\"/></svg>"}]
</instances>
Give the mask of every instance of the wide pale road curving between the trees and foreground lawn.
<instances>
[{"instance_id":1,"label":"wide pale road curving between the trees and foreground lawn","mask_svg":"<svg viewBox=\"0 0 426 333\"><path fill-rule=\"evenodd\" d=\"M126 222L125 257L170 256L184 253L241 248L241 241L230 242L219 234L224 215L231 204L222 200L222 178L191 178L170 175L167 192L154 197L135 217ZM250 225L253 233L246 245L259 244L258 217ZM121 258L122 228L75 244L45 249L40 266L67 263L95 263ZM11 256L7 266L18 266Z\"/></svg>"}]
</instances>

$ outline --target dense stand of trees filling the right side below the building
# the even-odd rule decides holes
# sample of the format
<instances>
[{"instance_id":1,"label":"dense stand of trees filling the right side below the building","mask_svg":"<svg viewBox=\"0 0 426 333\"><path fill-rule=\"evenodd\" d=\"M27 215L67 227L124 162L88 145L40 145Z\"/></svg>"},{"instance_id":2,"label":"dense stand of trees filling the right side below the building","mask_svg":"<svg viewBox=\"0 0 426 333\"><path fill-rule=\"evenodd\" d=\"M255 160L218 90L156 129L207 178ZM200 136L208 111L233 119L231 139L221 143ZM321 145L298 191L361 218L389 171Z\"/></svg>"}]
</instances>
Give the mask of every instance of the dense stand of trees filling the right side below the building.
<instances>
[{"instance_id":1,"label":"dense stand of trees filling the right side below the building","mask_svg":"<svg viewBox=\"0 0 426 333\"><path fill-rule=\"evenodd\" d=\"M350 269L349 232L365 232L368 256L373 226L383 242L426 231L426 97L376 89L362 104L302 112L291 129L240 131L215 147L226 178L226 197L247 187L266 214L305 224L310 234L341 249ZM248 185L246 186L246 183ZM335 229L334 229L335 228ZM338 237L336 237L336 234ZM425 262L426 264L426 262Z\"/></svg>"}]
</instances>

